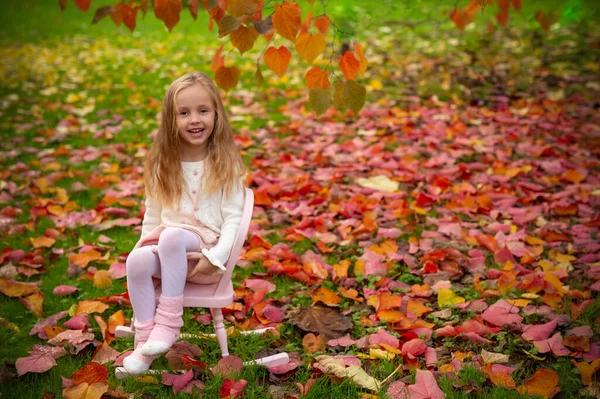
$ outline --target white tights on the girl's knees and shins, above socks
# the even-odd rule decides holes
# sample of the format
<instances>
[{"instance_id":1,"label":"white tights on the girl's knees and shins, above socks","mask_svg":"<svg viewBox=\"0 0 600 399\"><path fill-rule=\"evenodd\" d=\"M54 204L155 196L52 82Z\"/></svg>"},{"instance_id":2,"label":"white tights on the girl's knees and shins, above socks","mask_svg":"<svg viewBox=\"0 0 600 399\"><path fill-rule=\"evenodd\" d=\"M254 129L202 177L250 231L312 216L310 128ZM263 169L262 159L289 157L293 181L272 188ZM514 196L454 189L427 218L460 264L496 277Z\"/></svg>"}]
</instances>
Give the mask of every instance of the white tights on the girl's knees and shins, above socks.
<instances>
[{"instance_id":1,"label":"white tights on the girl's knees and shins, above socks","mask_svg":"<svg viewBox=\"0 0 600 399\"><path fill-rule=\"evenodd\" d=\"M160 272L162 294L169 298L183 295L187 276L188 251L198 251L200 240L189 230L167 227L158 238L158 254L152 245L134 249L127 258L129 299L139 322L154 318L156 296L152 275Z\"/></svg>"}]
</instances>

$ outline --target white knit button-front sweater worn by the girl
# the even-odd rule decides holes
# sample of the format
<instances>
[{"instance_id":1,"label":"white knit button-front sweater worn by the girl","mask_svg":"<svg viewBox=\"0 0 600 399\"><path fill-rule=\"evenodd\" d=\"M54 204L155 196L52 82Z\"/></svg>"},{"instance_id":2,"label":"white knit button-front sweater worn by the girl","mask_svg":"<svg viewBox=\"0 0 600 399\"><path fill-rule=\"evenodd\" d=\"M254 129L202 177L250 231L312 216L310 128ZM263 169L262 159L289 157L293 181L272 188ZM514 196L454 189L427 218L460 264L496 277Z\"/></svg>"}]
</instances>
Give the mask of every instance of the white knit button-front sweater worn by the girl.
<instances>
[{"instance_id":1,"label":"white knit button-front sweater worn by the girl","mask_svg":"<svg viewBox=\"0 0 600 399\"><path fill-rule=\"evenodd\" d=\"M182 189L178 209L163 208L158 201L146 196L140 242L161 224L166 227L195 227L201 224L220 235L217 245L202 253L210 263L224 269L242 219L244 188L240 183L229 198L225 197L223 188L216 193L205 194L200 190L204 161L182 162L181 165L187 187Z\"/></svg>"}]
</instances>

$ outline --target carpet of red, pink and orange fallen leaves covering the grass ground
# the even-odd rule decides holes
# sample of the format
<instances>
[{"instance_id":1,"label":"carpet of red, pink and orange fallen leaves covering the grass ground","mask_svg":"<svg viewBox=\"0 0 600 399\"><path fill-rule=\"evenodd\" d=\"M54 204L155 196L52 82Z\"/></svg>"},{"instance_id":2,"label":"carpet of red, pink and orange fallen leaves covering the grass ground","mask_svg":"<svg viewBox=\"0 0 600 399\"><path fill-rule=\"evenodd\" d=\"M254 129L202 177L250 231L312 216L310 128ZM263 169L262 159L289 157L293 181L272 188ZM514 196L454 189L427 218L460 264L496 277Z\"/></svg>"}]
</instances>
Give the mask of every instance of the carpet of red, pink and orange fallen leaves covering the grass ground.
<instances>
[{"instance_id":1,"label":"carpet of red, pink and orange fallen leaves covering the grass ground","mask_svg":"<svg viewBox=\"0 0 600 399\"><path fill-rule=\"evenodd\" d=\"M87 44L56 51L72 62L78 46ZM384 61L392 50L381 51L369 59ZM3 52L13 57L8 76L40 56L32 47ZM111 54L123 67L150 63L135 52ZM423 63L422 73L434 79L443 61ZM402 65L407 87L419 81L410 65ZM239 262L245 270L234 275L236 299L224 314L231 334L268 329L269 354L293 349L288 364L269 368L265 395L299 398L324 376L352 380L364 397L441 398L440 385L478 394L481 384L460 378L474 369L487 388L553 397L561 390L554 367L561 359L579 373L580 395L598 395L598 67L570 64L585 73L560 76L563 87L578 85L568 95L541 79L554 67L529 67L539 72L531 77L535 93L516 95L506 86L469 99L461 86L453 99L413 95L403 102L379 78L390 83L397 72L374 67L369 90L381 99L356 118L330 110L316 120L294 88L273 89L289 99L279 108L286 120L256 129L246 122L268 120L267 104L246 92L227 99L249 161L255 211ZM500 69L491 69L494 78ZM443 83L486 73L464 65L456 72ZM503 79L520 74L515 68ZM24 94L42 84L25 83ZM116 350L114 334L129 323L124 265L143 217L148 140L132 126L155 127L133 114L146 109L153 118L160 94L131 94L112 113L96 109L100 100L72 82L52 84L33 105L16 94L2 99L10 111L2 120L15 134L0 144L0 292L39 318L29 331L39 343L28 356L8 359L14 368L5 366L2 378L18 384L60 358L88 356L63 376L63 395L129 397L112 373L131 349ZM119 247L120 227L130 229L127 250ZM65 284L45 287L44 276L61 261ZM84 286L108 294L79 296ZM46 317L44 289L71 305ZM29 329L11 322L13 314L2 316L2 328ZM198 314L184 332L210 323L210 315ZM174 393L202 391L216 374L225 377L221 397L247 389L236 356L211 365L198 345L182 340L166 358L172 370L186 370L161 375ZM382 375L383 362L393 371ZM295 380L300 370L308 380Z\"/></svg>"}]
</instances>

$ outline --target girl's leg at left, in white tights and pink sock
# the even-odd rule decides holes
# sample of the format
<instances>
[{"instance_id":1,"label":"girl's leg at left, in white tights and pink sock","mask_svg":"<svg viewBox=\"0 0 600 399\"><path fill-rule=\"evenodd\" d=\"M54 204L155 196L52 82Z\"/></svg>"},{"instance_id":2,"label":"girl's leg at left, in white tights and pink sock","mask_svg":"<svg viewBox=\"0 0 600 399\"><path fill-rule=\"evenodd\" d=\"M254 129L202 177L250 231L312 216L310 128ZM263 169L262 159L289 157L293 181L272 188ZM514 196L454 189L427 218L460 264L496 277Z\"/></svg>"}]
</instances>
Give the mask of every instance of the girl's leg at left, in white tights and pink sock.
<instances>
[{"instance_id":1,"label":"girl's leg at left, in white tights and pink sock","mask_svg":"<svg viewBox=\"0 0 600 399\"><path fill-rule=\"evenodd\" d=\"M131 374L142 374L156 358L142 355L141 349L154 328L156 296L152 275L160 270L160 264L158 256L148 246L133 250L127 257L126 268L127 289L135 314L135 341L134 351L123 360L123 366Z\"/></svg>"}]
</instances>

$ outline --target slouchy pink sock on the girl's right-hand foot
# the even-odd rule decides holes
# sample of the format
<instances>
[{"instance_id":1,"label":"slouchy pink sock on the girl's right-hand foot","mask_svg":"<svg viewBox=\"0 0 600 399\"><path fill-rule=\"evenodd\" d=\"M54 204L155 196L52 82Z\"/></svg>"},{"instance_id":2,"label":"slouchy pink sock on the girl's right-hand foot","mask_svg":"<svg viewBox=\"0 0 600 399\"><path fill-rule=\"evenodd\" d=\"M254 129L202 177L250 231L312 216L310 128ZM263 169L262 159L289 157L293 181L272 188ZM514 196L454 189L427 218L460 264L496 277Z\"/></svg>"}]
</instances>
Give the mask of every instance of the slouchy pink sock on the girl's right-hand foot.
<instances>
[{"instance_id":1,"label":"slouchy pink sock on the girl's right-hand foot","mask_svg":"<svg viewBox=\"0 0 600 399\"><path fill-rule=\"evenodd\" d=\"M183 295L169 298L161 295L154 316L154 329L148 341L142 346L145 356L166 353L179 339L179 331L183 327Z\"/></svg>"}]
</instances>

